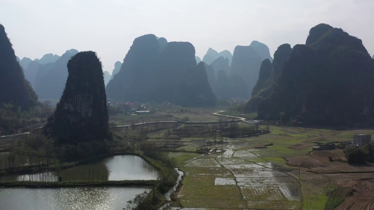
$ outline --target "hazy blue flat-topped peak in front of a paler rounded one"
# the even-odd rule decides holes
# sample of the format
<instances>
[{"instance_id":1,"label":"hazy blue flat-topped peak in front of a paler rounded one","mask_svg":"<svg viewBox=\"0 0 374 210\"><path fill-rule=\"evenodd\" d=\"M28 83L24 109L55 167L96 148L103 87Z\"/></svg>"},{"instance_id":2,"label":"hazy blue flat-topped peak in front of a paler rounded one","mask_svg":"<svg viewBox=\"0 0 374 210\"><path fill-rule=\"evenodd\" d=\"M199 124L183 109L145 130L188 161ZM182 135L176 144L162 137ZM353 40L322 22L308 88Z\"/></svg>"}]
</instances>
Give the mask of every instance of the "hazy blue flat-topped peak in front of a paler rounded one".
<instances>
[{"instance_id":1,"label":"hazy blue flat-topped peak in front of a paler rounded one","mask_svg":"<svg viewBox=\"0 0 374 210\"><path fill-rule=\"evenodd\" d=\"M242 77L251 93L258 80L261 56L250 46L236 46L231 63L231 74Z\"/></svg>"}]
</instances>

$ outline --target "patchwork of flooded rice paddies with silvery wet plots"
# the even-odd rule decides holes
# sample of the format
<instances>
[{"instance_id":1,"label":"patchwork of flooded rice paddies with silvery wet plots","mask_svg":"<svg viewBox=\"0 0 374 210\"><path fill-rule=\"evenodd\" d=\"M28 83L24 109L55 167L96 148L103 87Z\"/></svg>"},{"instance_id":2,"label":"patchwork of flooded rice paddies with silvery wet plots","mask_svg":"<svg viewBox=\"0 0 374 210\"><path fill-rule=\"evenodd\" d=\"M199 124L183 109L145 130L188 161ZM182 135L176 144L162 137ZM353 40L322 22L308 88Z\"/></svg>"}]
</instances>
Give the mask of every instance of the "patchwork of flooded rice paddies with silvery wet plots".
<instances>
[{"instance_id":1,"label":"patchwork of flooded rice paddies with silvery wet plots","mask_svg":"<svg viewBox=\"0 0 374 210\"><path fill-rule=\"evenodd\" d=\"M180 195L182 204L188 207L188 203L195 202L206 208L297 209L300 207L301 190L297 180L276 164L263 159L256 162L261 159L255 154L260 152L258 149L234 151L230 148L225 148L226 151L217 154L216 158L197 158L184 166L187 176L192 176L191 180L197 182L190 183L193 185L190 188L195 190L209 188L208 193L212 194L212 203L200 203L199 198L182 192ZM198 185L209 180L214 182L214 186L210 187L210 183L205 183L204 186ZM222 195L212 193L213 191L221 191Z\"/></svg>"}]
</instances>

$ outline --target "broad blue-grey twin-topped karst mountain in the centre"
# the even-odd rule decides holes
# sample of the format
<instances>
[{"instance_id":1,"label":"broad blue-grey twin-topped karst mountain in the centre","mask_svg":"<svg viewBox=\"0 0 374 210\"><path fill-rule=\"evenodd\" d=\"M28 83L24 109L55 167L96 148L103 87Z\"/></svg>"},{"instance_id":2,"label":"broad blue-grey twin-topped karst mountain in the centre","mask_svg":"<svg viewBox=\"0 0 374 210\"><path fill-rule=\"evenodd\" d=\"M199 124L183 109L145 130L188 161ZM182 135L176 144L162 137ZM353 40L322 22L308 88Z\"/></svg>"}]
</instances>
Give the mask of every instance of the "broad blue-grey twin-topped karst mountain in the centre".
<instances>
[{"instance_id":1,"label":"broad blue-grey twin-topped karst mountain in the centre","mask_svg":"<svg viewBox=\"0 0 374 210\"><path fill-rule=\"evenodd\" d=\"M206 87L209 89L205 90ZM199 88L197 92L190 91ZM132 102L169 101L180 105L193 102L194 106L206 106L211 102L205 100L210 100L211 95L214 98L205 68L197 68L194 46L188 42L168 42L161 49L153 34L134 40L120 72L106 90L108 98Z\"/></svg>"}]
</instances>

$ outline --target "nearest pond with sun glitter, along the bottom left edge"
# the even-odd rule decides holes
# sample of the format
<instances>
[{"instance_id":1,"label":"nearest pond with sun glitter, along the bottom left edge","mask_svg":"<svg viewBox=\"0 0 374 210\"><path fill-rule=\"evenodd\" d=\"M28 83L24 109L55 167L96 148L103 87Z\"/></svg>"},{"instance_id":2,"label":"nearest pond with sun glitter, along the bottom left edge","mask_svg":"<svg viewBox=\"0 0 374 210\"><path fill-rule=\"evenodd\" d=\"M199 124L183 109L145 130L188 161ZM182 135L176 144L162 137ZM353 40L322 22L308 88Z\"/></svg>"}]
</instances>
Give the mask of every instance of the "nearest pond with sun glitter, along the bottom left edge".
<instances>
[{"instance_id":1,"label":"nearest pond with sun glitter, along the bottom left edge","mask_svg":"<svg viewBox=\"0 0 374 210\"><path fill-rule=\"evenodd\" d=\"M76 187L76 188L4 188L0 189L0 206L4 210L122 210L127 201L147 188Z\"/></svg>"}]
</instances>

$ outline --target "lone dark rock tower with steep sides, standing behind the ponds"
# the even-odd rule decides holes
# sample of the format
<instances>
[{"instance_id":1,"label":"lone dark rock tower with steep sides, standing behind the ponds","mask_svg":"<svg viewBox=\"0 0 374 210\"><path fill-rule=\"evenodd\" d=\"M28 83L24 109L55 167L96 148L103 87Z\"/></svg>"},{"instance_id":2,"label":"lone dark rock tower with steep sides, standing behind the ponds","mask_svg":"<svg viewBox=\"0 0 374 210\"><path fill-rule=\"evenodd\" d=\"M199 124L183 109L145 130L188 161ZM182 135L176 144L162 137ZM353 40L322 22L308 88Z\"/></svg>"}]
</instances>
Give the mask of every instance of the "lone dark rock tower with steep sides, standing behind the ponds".
<instances>
[{"instance_id":1,"label":"lone dark rock tower with steep sides, standing behind the ponds","mask_svg":"<svg viewBox=\"0 0 374 210\"><path fill-rule=\"evenodd\" d=\"M108 138L107 97L96 53L77 53L67 67L66 87L55 113L44 127L45 133L61 144Z\"/></svg>"}]
</instances>

